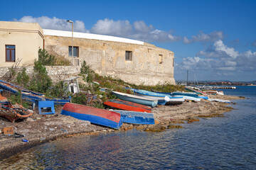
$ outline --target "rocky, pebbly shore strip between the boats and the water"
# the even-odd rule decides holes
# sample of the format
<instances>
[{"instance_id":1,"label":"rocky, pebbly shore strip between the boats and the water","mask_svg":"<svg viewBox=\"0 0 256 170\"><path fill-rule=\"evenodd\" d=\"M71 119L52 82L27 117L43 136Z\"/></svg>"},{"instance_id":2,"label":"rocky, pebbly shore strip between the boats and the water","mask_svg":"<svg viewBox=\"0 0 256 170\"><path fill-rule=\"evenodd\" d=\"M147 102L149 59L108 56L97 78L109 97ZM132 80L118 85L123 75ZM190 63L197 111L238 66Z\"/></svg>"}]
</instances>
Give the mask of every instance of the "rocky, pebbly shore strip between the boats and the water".
<instances>
[{"instance_id":1,"label":"rocky, pebbly shore strip between the boats and the water","mask_svg":"<svg viewBox=\"0 0 256 170\"><path fill-rule=\"evenodd\" d=\"M242 99L238 96L209 96L228 100ZM233 103L234 104L234 103ZM223 117L223 113L233 109L227 103L202 100L201 102L184 102L176 106L158 106L152 109L155 125L132 125L124 123L119 130L145 130L161 132L166 128L182 128L182 123L193 123L205 117ZM62 107L58 107L55 115L39 115L34 113L18 123L10 123L0 118L0 130L6 127L14 128L16 135L0 134L0 160L10 157L23 149L40 145L50 140L73 135L97 135L99 133L118 132L110 128L92 125L90 122L78 120L66 115L60 115ZM23 142L22 140L25 140ZM26 142L26 140L28 142Z\"/></svg>"}]
</instances>

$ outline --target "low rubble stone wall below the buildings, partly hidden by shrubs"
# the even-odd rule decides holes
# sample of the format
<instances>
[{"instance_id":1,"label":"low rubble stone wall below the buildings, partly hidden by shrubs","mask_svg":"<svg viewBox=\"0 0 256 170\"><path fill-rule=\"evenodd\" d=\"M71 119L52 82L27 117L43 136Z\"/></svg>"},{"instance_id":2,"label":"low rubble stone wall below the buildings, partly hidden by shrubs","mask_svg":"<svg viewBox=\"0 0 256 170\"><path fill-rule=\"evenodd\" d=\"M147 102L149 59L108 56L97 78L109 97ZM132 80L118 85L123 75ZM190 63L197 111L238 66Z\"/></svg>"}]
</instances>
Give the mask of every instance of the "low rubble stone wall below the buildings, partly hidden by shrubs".
<instances>
[{"instance_id":1,"label":"low rubble stone wall below the buildings, partly hidden by shrubs","mask_svg":"<svg viewBox=\"0 0 256 170\"><path fill-rule=\"evenodd\" d=\"M9 72L9 68L11 67L0 67L0 77L3 77L4 74ZM23 67L16 67L16 69L21 70L23 69ZM57 82L70 77L76 77L80 72L79 67L73 66L46 66L46 70L50 78L53 80L53 82ZM26 73L28 75L32 74L33 67L26 67Z\"/></svg>"}]
</instances>

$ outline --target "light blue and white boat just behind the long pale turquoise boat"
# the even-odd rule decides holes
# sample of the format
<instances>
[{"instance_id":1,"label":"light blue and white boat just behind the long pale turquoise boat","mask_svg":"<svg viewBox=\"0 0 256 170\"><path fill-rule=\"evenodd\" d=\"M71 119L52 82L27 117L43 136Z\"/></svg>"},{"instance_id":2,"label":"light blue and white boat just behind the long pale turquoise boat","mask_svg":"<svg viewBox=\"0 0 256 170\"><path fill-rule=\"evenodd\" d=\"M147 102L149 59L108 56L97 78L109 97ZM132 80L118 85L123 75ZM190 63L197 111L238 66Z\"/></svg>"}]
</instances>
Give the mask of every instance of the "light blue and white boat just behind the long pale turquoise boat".
<instances>
[{"instance_id":1,"label":"light blue and white boat just behind the long pale turquoise boat","mask_svg":"<svg viewBox=\"0 0 256 170\"><path fill-rule=\"evenodd\" d=\"M152 91L146 91L146 90L139 90L139 89L133 89L134 94L137 96L142 96L145 98L152 98L157 100L157 104L159 105L165 105L166 102L170 101L169 96L166 96L165 94L158 94Z\"/></svg>"}]
</instances>

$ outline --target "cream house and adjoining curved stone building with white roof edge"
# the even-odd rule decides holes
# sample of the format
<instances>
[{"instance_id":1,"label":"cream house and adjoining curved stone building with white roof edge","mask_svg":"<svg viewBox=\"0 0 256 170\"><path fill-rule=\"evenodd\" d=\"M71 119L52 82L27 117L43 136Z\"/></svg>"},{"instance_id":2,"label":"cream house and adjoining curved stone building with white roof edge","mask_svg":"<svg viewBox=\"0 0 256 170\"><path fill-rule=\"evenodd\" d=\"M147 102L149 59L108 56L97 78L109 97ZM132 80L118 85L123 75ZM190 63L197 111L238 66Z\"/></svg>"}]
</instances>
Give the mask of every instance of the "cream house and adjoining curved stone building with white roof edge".
<instances>
[{"instance_id":1,"label":"cream house and adjoining curved stone building with white roof edge","mask_svg":"<svg viewBox=\"0 0 256 170\"><path fill-rule=\"evenodd\" d=\"M72 33L45 30L38 23L0 21L0 67L33 64L38 49L72 60ZM73 64L85 60L96 73L134 84L163 84L174 80L174 52L146 42L107 35L74 33Z\"/></svg>"}]
</instances>

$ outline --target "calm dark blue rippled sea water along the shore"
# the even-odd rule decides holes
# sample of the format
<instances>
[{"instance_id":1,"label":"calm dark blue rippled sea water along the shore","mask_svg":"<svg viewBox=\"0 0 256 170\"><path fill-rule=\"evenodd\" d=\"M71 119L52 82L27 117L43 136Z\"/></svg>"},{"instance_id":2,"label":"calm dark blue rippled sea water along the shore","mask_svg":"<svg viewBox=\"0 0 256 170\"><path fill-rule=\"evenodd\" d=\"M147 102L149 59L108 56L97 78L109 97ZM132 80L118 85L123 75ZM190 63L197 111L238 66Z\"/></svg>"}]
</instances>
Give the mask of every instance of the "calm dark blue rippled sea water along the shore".
<instances>
[{"instance_id":1,"label":"calm dark blue rippled sea water along the shore","mask_svg":"<svg viewBox=\"0 0 256 170\"><path fill-rule=\"evenodd\" d=\"M256 169L256 86L224 90L225 118L166 132L130 130L48 142L0 162L0 169Z\"/></svg>"}]
</instances>

